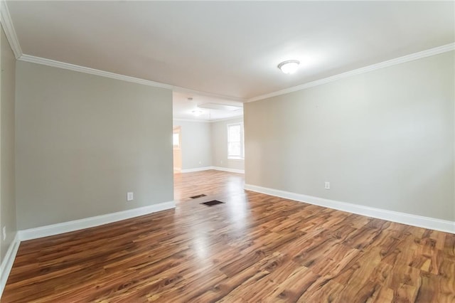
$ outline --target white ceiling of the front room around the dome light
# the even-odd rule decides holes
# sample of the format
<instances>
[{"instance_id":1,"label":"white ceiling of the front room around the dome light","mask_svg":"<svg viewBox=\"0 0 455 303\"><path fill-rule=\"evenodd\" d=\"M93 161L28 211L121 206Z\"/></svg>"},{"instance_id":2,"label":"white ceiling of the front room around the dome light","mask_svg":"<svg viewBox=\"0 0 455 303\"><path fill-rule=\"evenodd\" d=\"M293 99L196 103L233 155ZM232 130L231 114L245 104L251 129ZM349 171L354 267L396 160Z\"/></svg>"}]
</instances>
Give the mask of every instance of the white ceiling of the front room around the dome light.
<instances>
[{"instance_id":1,"label":"white ceiling of the front room around the dome light","mask_svg":"<svg viewBox=\"0 0 455 303\"><path fill-rule=\"evenodd\" d=\"M7 4L24 54L199 92L182 100L247 100L455 41L454 1ZM294 75L277 69L289 59Z\"/></svg>"}]
</instances>

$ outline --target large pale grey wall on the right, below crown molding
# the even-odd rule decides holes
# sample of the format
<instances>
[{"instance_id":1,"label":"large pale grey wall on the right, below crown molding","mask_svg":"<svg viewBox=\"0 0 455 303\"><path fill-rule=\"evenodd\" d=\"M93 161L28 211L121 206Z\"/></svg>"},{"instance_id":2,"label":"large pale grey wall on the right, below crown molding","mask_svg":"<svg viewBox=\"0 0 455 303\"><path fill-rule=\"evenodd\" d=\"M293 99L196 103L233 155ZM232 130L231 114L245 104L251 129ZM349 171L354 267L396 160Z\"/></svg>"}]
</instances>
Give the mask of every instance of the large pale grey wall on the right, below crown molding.
<instances>
[{"instance_id":1,"label":"large pale grey wall on the right, below crown molding","mask_svg":"<svg viewBox=\"0 0 455 303\"><path fill-rule=\"evenodd\" d=\"M245 183L455 220L454 85L451 51L247 103Z\"/></svg>"}]
</instances>

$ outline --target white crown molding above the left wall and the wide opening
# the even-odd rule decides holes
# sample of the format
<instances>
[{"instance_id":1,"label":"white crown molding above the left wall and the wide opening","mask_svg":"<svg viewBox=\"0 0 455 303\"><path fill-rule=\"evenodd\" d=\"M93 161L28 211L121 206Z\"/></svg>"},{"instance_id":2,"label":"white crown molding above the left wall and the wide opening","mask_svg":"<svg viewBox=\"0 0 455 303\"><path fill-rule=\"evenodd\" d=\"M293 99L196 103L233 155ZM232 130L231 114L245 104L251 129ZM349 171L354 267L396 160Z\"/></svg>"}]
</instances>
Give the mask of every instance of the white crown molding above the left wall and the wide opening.
<instances>
[{"instance_id":1,"label":"white crown molding above the left wall and the wide opening","mask_svg":"<svg viewBox=\"0 0 455 303\"><path fill-rule=\"evenodd\" d=\"M168 90L173 90L174 92L182 92L185 94L191 94L191 95L200 95L200 96L205 96L205 97L213 97L216 99L225 99L225 100L231 100L231 101L237 101L237 102L245 102L246 100L243 98L239 97L230 97L230 96L225 96L225 95L218 95L218 94L213 94L210 92L200 92L198 90L190 90L189 88L185 87L178 87L174 85L169 85L165 83L159 83L151 80L145 80L141 78L135 78L135 77L130 77L127 75L121 75L117 73L110 73L105 70L97 70L95 68L87 68L85 66L80 66L80 65L75 65L71 63L65 63L57 60L51 60L51 59L46 59L46 58L41 58L41 57L36 57L34 55L21 55L18 60L24 61L24 62L29 62L29 63L36 63L36 64L41 64L41 65L47 65L51 66L53 68L63 68L65 70L73 70L76 72L80 73L87 73L90 75L99 75L101 77L106 77L106 78L112 78L112 79L117 79L117 80L123 80L127 82L132 82L132 83L139 83L142 85L149 85L153 87L161 87L161 88L166 88Z\"/></svg>"}]
</instances>

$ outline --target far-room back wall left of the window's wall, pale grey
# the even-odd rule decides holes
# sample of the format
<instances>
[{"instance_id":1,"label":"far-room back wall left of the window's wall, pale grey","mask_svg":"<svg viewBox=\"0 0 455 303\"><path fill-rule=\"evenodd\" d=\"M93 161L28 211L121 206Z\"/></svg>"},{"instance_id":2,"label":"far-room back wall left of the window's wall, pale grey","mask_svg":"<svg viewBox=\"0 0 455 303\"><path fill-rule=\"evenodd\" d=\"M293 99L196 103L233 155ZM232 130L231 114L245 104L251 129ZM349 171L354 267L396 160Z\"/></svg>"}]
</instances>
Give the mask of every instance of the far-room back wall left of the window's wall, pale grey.
<instances>
[{"instance_id":1,"label":"far-room back wall left of the window's wall, pale grey","mask_svg":"<svg viewBox=\"0 0 455 303\"><path fill-rule=\"evenodd\" d=\"M173 126L181 127L182 170L211 166L210 123L175 119Z\"/></svg>"}]
</instances>

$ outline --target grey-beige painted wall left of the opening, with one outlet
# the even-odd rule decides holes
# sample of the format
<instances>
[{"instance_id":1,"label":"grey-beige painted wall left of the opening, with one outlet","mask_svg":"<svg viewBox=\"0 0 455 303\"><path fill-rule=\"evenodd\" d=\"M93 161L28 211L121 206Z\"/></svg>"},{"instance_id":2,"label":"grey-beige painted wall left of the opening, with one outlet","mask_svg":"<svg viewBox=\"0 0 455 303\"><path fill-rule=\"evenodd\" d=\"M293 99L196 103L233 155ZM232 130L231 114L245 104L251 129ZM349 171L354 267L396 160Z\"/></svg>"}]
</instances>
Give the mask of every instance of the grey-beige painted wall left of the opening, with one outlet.
<instances>
[{"instance_id":1,"label":"grey-beige painted wall left of the opening, with one outlet","mask_svg":"<svg viewBox=\"0 0 455 303\"><path fill-rule=\"evenodd\" d=\"M18 61L19 230L172 200L171 90Z\"/></svg>"}]
</instances>

